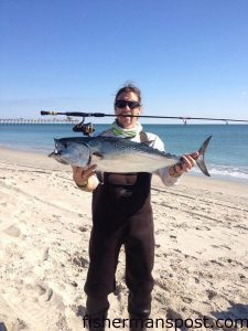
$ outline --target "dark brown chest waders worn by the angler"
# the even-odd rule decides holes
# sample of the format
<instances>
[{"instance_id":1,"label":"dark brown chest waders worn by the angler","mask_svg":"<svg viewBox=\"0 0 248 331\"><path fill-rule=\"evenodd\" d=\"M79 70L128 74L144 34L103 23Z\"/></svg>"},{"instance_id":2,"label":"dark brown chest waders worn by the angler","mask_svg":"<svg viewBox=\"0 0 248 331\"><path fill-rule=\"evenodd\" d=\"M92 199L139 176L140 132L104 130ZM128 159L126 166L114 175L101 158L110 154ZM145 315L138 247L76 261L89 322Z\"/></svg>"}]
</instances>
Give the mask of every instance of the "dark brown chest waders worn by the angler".
<instances>
[{"instance_id":1,"label":"dark brown chest waders worn by the angler","mask_svg":"<svg viewBox=\"0 0 248 331\"><path fill-rule=\"evenodd\" d=\"M151 310L154 235L150 190L150 173L104 173L104 184L93 193L90 263L85 284L89 330L105 330L96 321L107 317L108 295L116 289L115 274L122 245L128 311L134 319L130 330L145 330L136 320L141 322Z\"/></svg>"}]
</instances>

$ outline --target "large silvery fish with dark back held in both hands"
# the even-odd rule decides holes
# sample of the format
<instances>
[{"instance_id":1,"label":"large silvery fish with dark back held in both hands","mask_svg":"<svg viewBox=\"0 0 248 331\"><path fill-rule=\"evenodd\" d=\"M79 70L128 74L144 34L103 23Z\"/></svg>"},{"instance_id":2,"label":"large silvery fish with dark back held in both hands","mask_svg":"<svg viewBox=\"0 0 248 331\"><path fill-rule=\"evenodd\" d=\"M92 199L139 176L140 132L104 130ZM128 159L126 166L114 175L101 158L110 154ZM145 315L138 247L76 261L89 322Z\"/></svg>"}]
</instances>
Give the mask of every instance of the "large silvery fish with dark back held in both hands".
<instances>
[{"instance_id":1,"label":"large silvery fish with dark back held in both hands","mask_svg":"<svg viewBox=\"0 0 248 331\"><path fill-rule=\"evenodd\" d=\"M212 136L198 150L195 160L201 171L209 177L204 156ZM112 173L150 172L171 167L182 157L157 150L144 142L134 142L115 137L68 137L54 139L55 149L50 158L63 164L88 168L96 164L96 171Z\"/></svg>"}]
</instances>

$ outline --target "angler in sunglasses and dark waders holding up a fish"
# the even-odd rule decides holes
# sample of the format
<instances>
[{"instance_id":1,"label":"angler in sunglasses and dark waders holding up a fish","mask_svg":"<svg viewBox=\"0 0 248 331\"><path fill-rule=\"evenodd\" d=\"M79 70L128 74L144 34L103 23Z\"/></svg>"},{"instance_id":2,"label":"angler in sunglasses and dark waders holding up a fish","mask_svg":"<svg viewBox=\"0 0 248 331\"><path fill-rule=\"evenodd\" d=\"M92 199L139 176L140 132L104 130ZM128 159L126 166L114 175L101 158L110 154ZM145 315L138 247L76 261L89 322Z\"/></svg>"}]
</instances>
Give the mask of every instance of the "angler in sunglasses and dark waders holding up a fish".
<instances>
[{"instance_id":1,"label":"angler in sunglasses and dark waders holding up a fish","mask_svg":"<svg viewBox=\"0 0 248 331\"><path fill-rule=\"evenodd\" d=\"M115 97L115 122L101 136L131 139L164 150L162 140L144 132L138 117L141 114L141 92L128 84ZM174 167L160 169L157 174L165 185L173 185L182 173L190 171L197 152L185 154ZM73 167L78 188L93 192L93 227L89 241L89 268L85 284L89 330L105 330L104 320L109 308L108 295L116 289L115 274L121 246L126 253L126 284L129 289L128 311L130 330L145 330L151 311L154 263L154 234L151 207L150 173L104 173L99 184L96 166L88 169Z\"/></svg>"}]
</instances>

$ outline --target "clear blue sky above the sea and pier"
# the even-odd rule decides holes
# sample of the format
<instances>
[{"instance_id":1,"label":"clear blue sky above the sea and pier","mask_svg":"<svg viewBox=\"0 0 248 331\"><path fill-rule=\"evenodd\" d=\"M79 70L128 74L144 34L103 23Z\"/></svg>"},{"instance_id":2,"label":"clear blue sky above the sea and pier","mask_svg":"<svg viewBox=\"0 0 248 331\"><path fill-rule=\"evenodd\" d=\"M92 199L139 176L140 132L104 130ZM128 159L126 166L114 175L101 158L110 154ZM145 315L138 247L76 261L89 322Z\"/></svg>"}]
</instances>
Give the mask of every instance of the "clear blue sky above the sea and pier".
<instances>
[{"instance_id":1,"label":"clear blue sky above the sea and pier","mask_svg":"<svg viewBox=\"0 0 248 331\"><path fill-rule=\"evenodd\" d=\"M248 118L247 0L0 0L0 117L112 111ZM109 119L108 119L109 120Z\"/></svg>"}]
</instances>

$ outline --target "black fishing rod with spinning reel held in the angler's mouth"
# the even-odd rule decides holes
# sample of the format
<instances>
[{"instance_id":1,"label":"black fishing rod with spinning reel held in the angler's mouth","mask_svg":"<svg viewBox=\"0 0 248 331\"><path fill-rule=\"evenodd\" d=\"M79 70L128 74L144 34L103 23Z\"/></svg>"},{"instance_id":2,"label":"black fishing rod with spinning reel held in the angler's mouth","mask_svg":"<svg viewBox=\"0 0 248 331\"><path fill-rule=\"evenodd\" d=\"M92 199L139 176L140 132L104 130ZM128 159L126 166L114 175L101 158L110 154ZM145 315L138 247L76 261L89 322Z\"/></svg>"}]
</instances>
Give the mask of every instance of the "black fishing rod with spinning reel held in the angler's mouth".
<instances>
[{"instance_id":1,"label":"black fishing rod with spinning reel held in the angler's mouth","mask_svg":"<svg viewBox=\"0 0 248 331\"><path fill-rule=\"evenodd\" d=\"M83 132L85 136L89 136L95 131L91 124L85 124L86 117L116 117L116 114L105 114L105 113L82 113L82 111L47 111L41 110L41 115L64 115L67 117L83 117L83 120L77 124L73 130L76 132ZM184 125L186 125L187 120L195 119L195 120L217 120L217 121L225 121L228 124L229 121L235 122L248 122L248 119L234 119L234 118L213 118L213 117L190 117L190 116L157 116L157 115L121 115L123 117L141 117L141 118L164 118L164 119L182 119Z\"/></svg>"}]
</instances>

